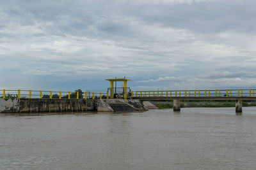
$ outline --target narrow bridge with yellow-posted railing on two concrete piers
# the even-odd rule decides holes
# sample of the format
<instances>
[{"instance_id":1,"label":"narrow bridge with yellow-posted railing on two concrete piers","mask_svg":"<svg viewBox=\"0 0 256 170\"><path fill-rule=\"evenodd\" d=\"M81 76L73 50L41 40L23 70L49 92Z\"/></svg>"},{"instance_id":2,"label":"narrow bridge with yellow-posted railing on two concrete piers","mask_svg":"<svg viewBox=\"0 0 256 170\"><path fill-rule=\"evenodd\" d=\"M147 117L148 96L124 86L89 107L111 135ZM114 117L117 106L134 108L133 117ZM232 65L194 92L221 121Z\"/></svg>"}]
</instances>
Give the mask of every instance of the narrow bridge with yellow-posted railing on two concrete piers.
<instances>
[{"instance_id":1,"label":"narrow bridge with yellow-posted railing on two concrete piers","mask_svg":"<svg viewBox=\"0 0 256 170\"><path fill-rule=\"evenodd\" d=\"M236 101L236 113L242 112L243 101L255 101L254 89L156 90L134 91L131 99L141 101L173 100L173 111L180 111L180 101Z\"/></svg>"}]
</instances>

